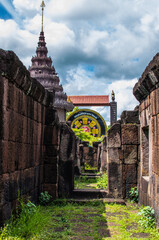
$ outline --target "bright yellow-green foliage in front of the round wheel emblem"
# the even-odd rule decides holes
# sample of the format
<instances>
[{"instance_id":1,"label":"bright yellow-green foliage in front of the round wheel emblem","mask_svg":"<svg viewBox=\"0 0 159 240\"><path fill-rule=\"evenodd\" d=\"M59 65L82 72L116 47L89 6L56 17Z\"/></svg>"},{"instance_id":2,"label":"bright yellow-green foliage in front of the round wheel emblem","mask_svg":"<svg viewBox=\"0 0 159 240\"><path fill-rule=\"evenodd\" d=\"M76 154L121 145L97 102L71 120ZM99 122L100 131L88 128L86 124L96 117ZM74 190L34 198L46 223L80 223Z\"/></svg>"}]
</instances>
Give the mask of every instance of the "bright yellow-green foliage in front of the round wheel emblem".
<instances>
[{"instance_id":1,"label":"bright yellow-green foliage in front of the round wheel emblem","mask_svg":"<svg viewBox=\"0 0 159 240\"><path fill-rule=\"evenodd\" d=\"M93 146L93 142L102 142L103 140L102 137L94 137L90 132L85 132L84 129L72 128L72 130L81 141L89 142L90 146Z\"/></svg>"}]
</instances>

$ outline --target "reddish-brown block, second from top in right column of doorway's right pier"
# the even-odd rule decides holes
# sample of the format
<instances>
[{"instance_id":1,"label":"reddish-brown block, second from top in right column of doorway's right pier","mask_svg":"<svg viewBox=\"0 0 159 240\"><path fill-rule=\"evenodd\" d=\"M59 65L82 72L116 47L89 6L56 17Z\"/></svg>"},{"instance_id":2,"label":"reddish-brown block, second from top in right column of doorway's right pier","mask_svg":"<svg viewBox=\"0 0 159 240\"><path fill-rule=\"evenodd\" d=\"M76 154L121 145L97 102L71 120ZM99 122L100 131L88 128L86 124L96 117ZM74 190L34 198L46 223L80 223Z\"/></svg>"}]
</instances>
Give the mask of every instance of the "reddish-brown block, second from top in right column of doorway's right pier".
<instances>
[{"instance_id":1,"label":"reddish-brown block, second from top in right column of doorway's right pier","mask_svg":"<svg viewBox=\"0 0 159 240\"><path fill-rule=\"evenodd\" d=\"M133 124L121 125L122 144L139 144L138 142L138 126Z\"/></svg>"}]
</instances>

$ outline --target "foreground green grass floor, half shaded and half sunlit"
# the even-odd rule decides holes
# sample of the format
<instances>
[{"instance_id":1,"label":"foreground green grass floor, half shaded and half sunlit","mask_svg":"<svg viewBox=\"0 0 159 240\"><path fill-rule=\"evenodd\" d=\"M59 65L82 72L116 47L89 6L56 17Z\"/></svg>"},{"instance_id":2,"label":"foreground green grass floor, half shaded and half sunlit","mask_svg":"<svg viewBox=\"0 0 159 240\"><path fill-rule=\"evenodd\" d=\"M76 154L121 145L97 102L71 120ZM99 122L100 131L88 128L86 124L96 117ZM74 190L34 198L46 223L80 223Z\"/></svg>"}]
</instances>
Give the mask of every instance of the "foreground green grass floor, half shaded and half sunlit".
<instances>
[{"instance_id":1,"label":"foreground green grass floor, half shaded and half sunlit","mask_svg":"<svg viewBox=\"0 0 159 240\"><path fill-rule=\"evenodd\" d=\"M94 201L77 205L55 201L38 207L29 221L19 219L13 226L8 225L0 240L83 240L86 236L94 240L129 240L139 239L133 237L138 234L149 234L146 240L159 239L158 230L144 229L138 224L138 211L132 203L124 206Z\"/></svg>"}]
</instances>

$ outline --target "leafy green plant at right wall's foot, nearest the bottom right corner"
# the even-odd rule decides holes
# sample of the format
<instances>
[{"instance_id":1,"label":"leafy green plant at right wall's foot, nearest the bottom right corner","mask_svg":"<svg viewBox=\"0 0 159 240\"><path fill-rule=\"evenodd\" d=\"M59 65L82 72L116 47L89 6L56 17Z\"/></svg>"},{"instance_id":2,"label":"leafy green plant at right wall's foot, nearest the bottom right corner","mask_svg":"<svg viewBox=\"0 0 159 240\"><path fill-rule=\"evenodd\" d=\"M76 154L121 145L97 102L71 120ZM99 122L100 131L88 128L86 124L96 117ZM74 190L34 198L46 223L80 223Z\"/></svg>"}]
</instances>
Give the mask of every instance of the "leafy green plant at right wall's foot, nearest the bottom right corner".
<instances>
[{"instance_id":1,"label":"leafy green plant at right wall's foot, nearest the bottom right corner","mask_svg":"<svg viewBox=\"0 0 159 240\"><path fill-rule=\"evenodd\" d=\"M150 206L146 206L142 208L138 215L140 216L139 223L144 228L155 228L156 220L155 220L155 211Z\"/></svg>"}]
</instances>

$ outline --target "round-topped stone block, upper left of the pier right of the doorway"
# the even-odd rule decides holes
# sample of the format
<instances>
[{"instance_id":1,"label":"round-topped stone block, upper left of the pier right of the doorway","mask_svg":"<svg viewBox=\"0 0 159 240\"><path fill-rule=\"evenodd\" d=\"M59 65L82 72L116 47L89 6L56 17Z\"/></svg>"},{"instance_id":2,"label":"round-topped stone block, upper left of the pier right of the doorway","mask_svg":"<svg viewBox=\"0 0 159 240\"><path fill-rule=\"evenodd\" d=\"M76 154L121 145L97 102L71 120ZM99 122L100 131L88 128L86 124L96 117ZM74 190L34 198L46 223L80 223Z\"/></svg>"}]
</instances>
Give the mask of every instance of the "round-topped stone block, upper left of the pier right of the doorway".
<instances>
[{"instance_id":1,"label":"round-topped stone block, upper left of the pier right of the doorway","mask_svg":"<svg viewBox=\"0 0 159 240\"><path fill-rule=\"evenodd\" d=\"M110 147L121 146L121 125L119 123L113 124L107 133L107 145Z\"/></svg>"}]
</instances>

